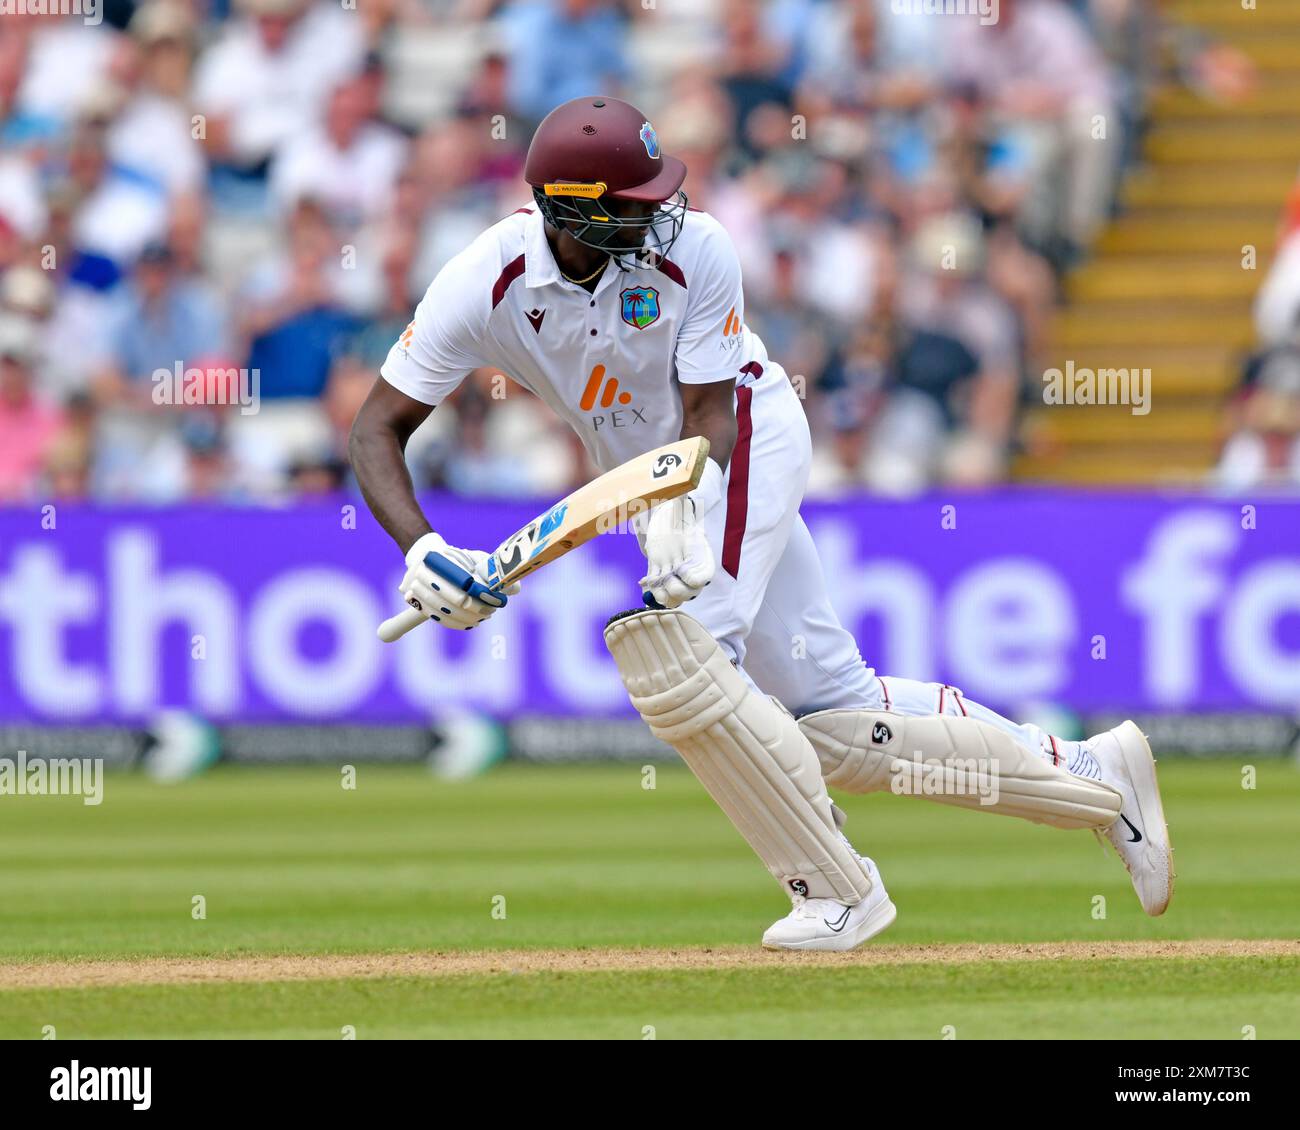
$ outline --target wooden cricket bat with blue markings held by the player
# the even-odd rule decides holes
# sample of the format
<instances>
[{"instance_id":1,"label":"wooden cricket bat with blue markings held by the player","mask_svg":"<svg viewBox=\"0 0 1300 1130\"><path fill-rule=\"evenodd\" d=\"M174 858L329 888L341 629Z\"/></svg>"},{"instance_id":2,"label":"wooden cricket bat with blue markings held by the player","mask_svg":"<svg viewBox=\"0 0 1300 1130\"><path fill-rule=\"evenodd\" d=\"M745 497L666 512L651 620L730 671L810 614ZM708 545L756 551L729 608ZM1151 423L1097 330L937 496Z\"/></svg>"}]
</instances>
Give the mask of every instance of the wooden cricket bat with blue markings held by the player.
<instances>
[{"instance_id":1,"label":"wooden cricket bat with blue markings held by the player","mask_svg":"<svg viewBox=\"0 0 1300 1130\"><path fill-rule=\"evenodd\" d=\"M616 528L630 514L694 490L707 458L708 441L696 436L664 443L607 471L497 546L485 563L486 577L467 572L441 553L428 554L424 563L448 584L500 607L506 603L502 589ZM380 638L391 644L424 620L415 609L406 609L380 624Z\"/></svg>"}]
</instances>

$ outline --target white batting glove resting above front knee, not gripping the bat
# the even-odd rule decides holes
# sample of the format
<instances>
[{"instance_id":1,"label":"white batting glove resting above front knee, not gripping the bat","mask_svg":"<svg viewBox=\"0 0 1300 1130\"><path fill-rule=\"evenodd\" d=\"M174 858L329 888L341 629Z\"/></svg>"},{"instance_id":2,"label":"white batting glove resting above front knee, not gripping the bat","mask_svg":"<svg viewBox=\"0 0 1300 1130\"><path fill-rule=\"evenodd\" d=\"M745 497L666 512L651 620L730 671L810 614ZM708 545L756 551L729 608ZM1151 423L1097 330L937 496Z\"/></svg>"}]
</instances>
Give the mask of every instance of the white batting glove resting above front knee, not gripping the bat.
<instances>
[{"instance_id":1,"label":"white batting glove resting above front knee, not gripping the bat","mask_svg":"<svg viewBox=\"0 0 1300 1130\"><path fill-rule=\"evenodd\" d=\"M699 486L653 507L646 516L642 549L646 575L641 590L664 609L693 601L714 579L714 551L705 537L703 518L723 497L723 471L705 460Z\"/></svg>"}]
</instances>

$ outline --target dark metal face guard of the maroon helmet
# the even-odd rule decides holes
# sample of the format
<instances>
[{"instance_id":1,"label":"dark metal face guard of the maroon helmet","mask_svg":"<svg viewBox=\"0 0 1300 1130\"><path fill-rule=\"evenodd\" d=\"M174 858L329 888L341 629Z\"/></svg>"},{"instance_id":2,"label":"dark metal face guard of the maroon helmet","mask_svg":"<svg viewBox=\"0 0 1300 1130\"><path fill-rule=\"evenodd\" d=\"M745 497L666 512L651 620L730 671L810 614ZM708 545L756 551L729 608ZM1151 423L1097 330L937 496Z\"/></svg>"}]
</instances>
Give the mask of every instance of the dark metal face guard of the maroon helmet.
<instances>
[{"instance_id":1,"label":"dark metal face guard of the maroon helmet","mask_svg":"<svg viewBox=\"0 0 1300 1130\"><path fill-rule=\"evenodd\" d=\"M620 268L642 265L642 256L663 257L681 234L686 220L686 194L680 189L668 200L644 202L644 212L611 216L602 207L604 185L551 183L533 189L542 218L578 243L604 251ZM610 194L618 199L616 194ZM630 260L630 261L629 261Z\"/></svg>"}]
</instances>

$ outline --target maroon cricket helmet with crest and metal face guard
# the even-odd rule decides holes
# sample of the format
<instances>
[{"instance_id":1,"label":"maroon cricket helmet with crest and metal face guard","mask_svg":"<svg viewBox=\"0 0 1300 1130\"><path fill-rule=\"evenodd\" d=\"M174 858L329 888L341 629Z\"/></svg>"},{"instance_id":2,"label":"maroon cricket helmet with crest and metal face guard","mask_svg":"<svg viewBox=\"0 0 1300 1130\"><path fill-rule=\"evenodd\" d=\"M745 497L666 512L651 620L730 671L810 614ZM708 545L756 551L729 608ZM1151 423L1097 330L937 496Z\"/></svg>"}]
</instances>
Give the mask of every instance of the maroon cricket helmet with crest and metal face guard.
<instances>
[{"instance_id":1,"label":"maroon cricket helmet with crest and metal face guard","mask_svg":"<svg viewBox=\"0 0 1300 1130\"><path fill-rule=\"evenodd\" d=\"M667 157L641 111L616 98L576 98L552 109L533 134L524 179L543 218L611 255L650 248L659 255L681 233L686 166ZM602 199L655 207L610 216ZM620 242L620 234L625 238Z\"/></svg>"}]
</instances>

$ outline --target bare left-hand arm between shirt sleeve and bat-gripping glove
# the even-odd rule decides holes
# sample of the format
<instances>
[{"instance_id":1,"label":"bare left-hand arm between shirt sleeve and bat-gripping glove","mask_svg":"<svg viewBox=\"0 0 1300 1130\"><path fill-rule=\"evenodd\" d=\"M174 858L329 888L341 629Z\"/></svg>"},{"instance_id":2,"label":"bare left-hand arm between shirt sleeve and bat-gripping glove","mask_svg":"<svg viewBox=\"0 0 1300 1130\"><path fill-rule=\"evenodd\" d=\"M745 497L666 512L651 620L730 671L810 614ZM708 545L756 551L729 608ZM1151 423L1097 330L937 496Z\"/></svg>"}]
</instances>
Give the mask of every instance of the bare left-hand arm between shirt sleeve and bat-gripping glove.
<instances>
[{"instance_id":1,"label":"bare left-hand arm between shirt sleeve and bat-gripping glove","mask_svg":"<svg viewBox=\"0 0 1300 1130\"><path fill-rule=\"evenodd\" d=\"M411 434L432 411L429 404L411 399L378 377L347 440L347 454L365 505L403 554L433 529L416 502L403 458Z\"/></svg>"}]
</instances>

